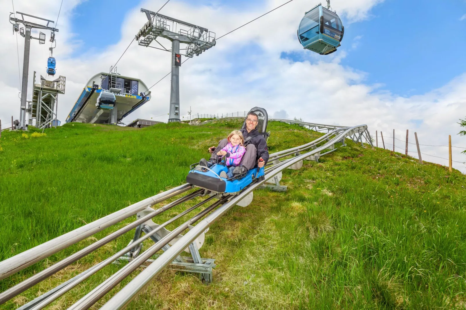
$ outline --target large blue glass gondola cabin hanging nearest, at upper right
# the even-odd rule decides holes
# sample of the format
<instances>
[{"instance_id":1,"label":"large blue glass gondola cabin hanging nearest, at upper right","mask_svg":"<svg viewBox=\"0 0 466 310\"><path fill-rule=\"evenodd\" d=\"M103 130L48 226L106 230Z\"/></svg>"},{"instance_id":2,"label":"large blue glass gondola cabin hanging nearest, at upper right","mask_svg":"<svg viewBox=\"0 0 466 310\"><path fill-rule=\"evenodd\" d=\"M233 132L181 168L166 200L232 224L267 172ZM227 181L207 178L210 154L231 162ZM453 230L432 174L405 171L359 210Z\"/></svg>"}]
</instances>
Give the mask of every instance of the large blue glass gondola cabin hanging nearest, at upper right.
<instances>
[{"instance_id":1,"label":"large blue glass gondola cabin hanging nearest, at upper right","mask_svg":"<svg viewBox=\"0 0 466 310\"><path fill-rule=\"evenodd\" d=\"M308 50L327 55L336 51L343 39L344 27L338 15L322 4L304 14L298 39Z\"/></svg>"}]
</instances>

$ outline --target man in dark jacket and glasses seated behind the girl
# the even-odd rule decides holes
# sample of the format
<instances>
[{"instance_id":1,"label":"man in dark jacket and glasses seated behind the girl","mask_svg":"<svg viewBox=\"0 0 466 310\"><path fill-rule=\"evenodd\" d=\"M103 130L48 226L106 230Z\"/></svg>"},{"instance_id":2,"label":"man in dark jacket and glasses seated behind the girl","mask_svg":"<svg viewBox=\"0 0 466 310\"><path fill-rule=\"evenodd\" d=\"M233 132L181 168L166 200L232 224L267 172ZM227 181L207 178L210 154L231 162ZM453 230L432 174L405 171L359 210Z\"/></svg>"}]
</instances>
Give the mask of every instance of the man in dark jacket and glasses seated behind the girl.
<instances>
[{"instance_id":1,"label":"man in dark jacket and glasses seated behind the girl","mask_svg":"<svg viewBox=\"0 0 466 310\"><path fill-rule=\"evenodd\" d=\"M240 164L234 168L233 175L240 175L245 173L247 170L254 168L256 162L257 167L262 168L268 161L267 142L265 141L264 136L256 129L258 121L259 116L254 112L249 112L246 116L246 128L240 130L245 141L246 153L243 155ZM207 167L212 166L217 162L217 152L224 148L227 143L228 141L226 139L222 139L217 147L210 147L209 152L212 155L210 156L209 162L203 158L199 164Z\"/></svg>"}]
</instances>

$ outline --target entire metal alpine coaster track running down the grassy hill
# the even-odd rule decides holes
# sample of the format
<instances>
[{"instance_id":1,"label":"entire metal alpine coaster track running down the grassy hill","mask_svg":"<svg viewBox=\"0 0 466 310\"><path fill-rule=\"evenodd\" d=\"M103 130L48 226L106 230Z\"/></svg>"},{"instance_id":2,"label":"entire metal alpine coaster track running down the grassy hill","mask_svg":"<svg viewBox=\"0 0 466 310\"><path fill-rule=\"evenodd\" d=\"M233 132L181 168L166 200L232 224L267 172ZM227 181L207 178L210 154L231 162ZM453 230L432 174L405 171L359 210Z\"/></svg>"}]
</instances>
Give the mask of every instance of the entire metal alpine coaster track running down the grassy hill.
<instances>
[{"instance_id":1,"label":"entire metal alpine coaster track running down the grassy hill","mask_svg":"<svg viewBox=\"0 0 466 310\"><path fill-rule=\"evenodd\" d=\"M225 118L224 118L225 119ZM177 216L172 217L170 220L159 225L157 228L146 232L142 237L136 238L128 244L128 246L120 249L113 256L108 257L100 263L92 266L88 270L83 271L81 274L71 278L65 283L60 284L52 290L42 294L40 297L35 298L33 301L21 306L20 310L39 310L46 307L48 304L52 303L57 298L61 297L63 294L74 288L79 283L82 283L84 280L89 278L89 276L95 274L97 271L101 270L103 267L108 264L115 262L119 257L125 253L130 252L135 246L142 241L152 238L155 234L164 229L168 224L178 220L182 216L187 215L188 213L198 209L203 204L210 202L211 200L217 198L210 206L206 207L204 210L200 211L195 216L192 216L191 219L187 220L183 224L179 225L173 231L168 231L161 239L157 239L150 248L146 249L144 252L138 256L133 257L129 263L127 263L123 268L118 270L114 275L110 276L103 283L98 285L94 290L89 292L87 295L82 297L79 301L73 304L69 309L89 309L94 303L96 303L100 298L102 298L107 292L114 288L118 283L120 283L125 277L129 276L134 270L147 261L153 261L146 269L144 269L139 275L137 275L130 283L128 283L122 290L120 290L114 297L112 297L101 309L122 309L130 301L137 296L137 294L144 289L151 281L154 280L158 274L167 268L167 266L172 263L177 257L180 257L179 254L183 252L188 247L193 246L194 241L206 230L208 227L223 216L229 209L234 205L243 200L247 195L252 193L254 189L259 188L264 182L267 182L269 179L273 178L275 175L281 173L282 170L289 168L296 163L302 161L303 159L308 159L309 156L320 154L320 152L330 149L330 151L335 149L337 143L342 143L344 145L345 138L349 137L355 142L363 143L363 138L366 139L366 142L372 146L371 138L369 131L367 130L366 125L354 126L354 127L339 127L339 126L327 126L322 124L307 123L301 121L288 121L288 120L278 120L273 119L274 121L286 121L296 123L300 126L320 126L321 128L328 129L328 133L322 135L318 139L303 144L295 148L289 148L280 152L276 152L270 155L269 164L266 167L266 174L264 180L255 180L251 183L246 189L241 191L238 195L221 195L211 194L203 201L195 204L194 206L186 209L185 211L179 213ZM205 124L205 123L203 123ZM301 154L303 153L303 154ZM328 152L327 152L328 153ZM326 153L324 153L326 154ZM289 156L293 156L289 158ZM288 159L284 159L288 156ZM282 160L280 160L282 159ZM272 163L272 164L270 164ZM6 277L27 268L28 266L51 256L58 251L69 247L89 236L96 234L103 229L106 229L117 222L121 222L130 216L142 212L147 207L151 207L157 203L164 202L165 200L172 198L176 195L185 193L186 191L192 189L191 184L183 184L176 188L169 189L158 195L151 196L140 202L134 203L129 207L121 209L117 212L114 212L108 216L104 216L101 219L98 219L94 222L91 222L85 226L82 226L78 229L70 231L62 236L56 237L46 243L42 243L32 249L28 249L16 256L10 257L2 262L0 262L0 280L5 279ZM102 247L104 244L115 240L117 237L122 236L126 232L129 232L133 228L141 227L144 222L151 221L152 218L161 214L162 212L171 209L183 202L188 202L199 195L206 194L203 189L193 191L187 195L184 195L181 198L161 207L158 209L152 209L150 212L138 218L136 221L127 224L121 229L116 230L115 232L109 234L108 236L103 237L102 239L92 243L84 249L81 249L74 253L71 256L64 258L63 260L53 264L41 272L30 276L26 280L14 285L13 287L5 290L0 293L0 304L5 303L7 300L17 296L21 292L27 290L28 288L34 286L37 283L40 283L42 280L48 278L49 276L55 274L57 271L62 270L71 263L76 262L78 259L86 256L87 254L95 251L96 249ZM213 211L210 215L208 215ZM204 219L202 219L204 217ZM202 220L201 220L202 219ZM199 222L200 221L200 222ZM192 226L195 222L199 222L196 226ZM189 231L181 236L179 234L183 233L186 229ZM168 246L168 243L173 242L171 247ZM160 249L164 249L163 254L158 256L156 260L150 260L150 258L157 253ZM191 248L190 248L191 249ZM192 252L193 253L193 252ZM194 254L193 258L194 258ZM198 253L199 255L199 253ZM200 256L199 256L200 258Z\"/></svg>"}]
</instances>

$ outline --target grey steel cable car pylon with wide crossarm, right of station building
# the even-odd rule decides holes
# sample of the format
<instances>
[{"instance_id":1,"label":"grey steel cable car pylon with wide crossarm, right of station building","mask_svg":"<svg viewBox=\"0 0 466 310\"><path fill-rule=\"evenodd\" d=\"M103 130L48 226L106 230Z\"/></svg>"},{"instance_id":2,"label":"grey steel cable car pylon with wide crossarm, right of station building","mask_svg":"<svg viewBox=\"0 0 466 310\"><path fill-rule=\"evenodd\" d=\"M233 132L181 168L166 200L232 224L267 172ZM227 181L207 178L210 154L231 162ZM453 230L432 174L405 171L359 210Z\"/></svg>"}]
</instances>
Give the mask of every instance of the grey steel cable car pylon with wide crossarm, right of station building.
<instances>
[{"instance_id":1,"label":"grey steel cable car pylon with wide crossarm, right of station building","mask_svg":"<svg viewBox=\"0 0 466 310\"><path fill-rule=\"evenodd\" d=\"M199 56L202 52L215 45L215 33L206 28L199 27L185 21L177 20L162 14L158 14L141 8L147 16L147 23L136 35L139 45L149 47L152 41L156 41L162 48L157 49L171 52L171 91L170 91L170 116L168 122L180 121L179 119L179 67L181 66L180 43L187 44L185 56ZM187 27L187 30L181 27ZM178 32L177 32L178 31ZM171 50L165 48L157 41L157 37L171 40Z\"/></svg>"}]
</instances>

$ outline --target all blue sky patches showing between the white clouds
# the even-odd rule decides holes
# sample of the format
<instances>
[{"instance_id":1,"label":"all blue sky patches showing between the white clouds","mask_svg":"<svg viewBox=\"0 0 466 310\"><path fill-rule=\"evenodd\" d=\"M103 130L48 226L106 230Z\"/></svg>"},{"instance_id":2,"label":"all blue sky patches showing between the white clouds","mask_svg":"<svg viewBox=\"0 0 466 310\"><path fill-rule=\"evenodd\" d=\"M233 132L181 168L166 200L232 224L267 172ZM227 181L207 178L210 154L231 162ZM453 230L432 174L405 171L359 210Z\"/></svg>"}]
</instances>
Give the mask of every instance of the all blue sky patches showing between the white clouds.
<instances>
[{"instance_id":1,"label":"all blue sky patches showing between the white clouds","mask_svg":"<svg viewBox=\"0 0 466 310\"><path fill-rule=\"evenodd\" d=\"M241 9L262 3L246 0L194 2ZM82 46L75 50L74 55L89 49L100 51L117 43L125 14L140 7L134 3L124 0L85 1L76 7L72 31L76 39L82 41ZM334 9L338 10L337 7ZM385 0L370 11L369 19L346 23L341 50L347 55L342 65L366 72L365 83L380 83L381 89L393 94L425 94L466 72L466 20L460 20L464 13L465 2L458 0L450 1L449 6L442 1ZM102 19L111 21L102 23L97 30L98 35L92 35L96 33L92 21ZM299 20L296 21L298 23ZM301 53L282 54L282 57L303 61Z\"/></svg>"}]
</instances>

